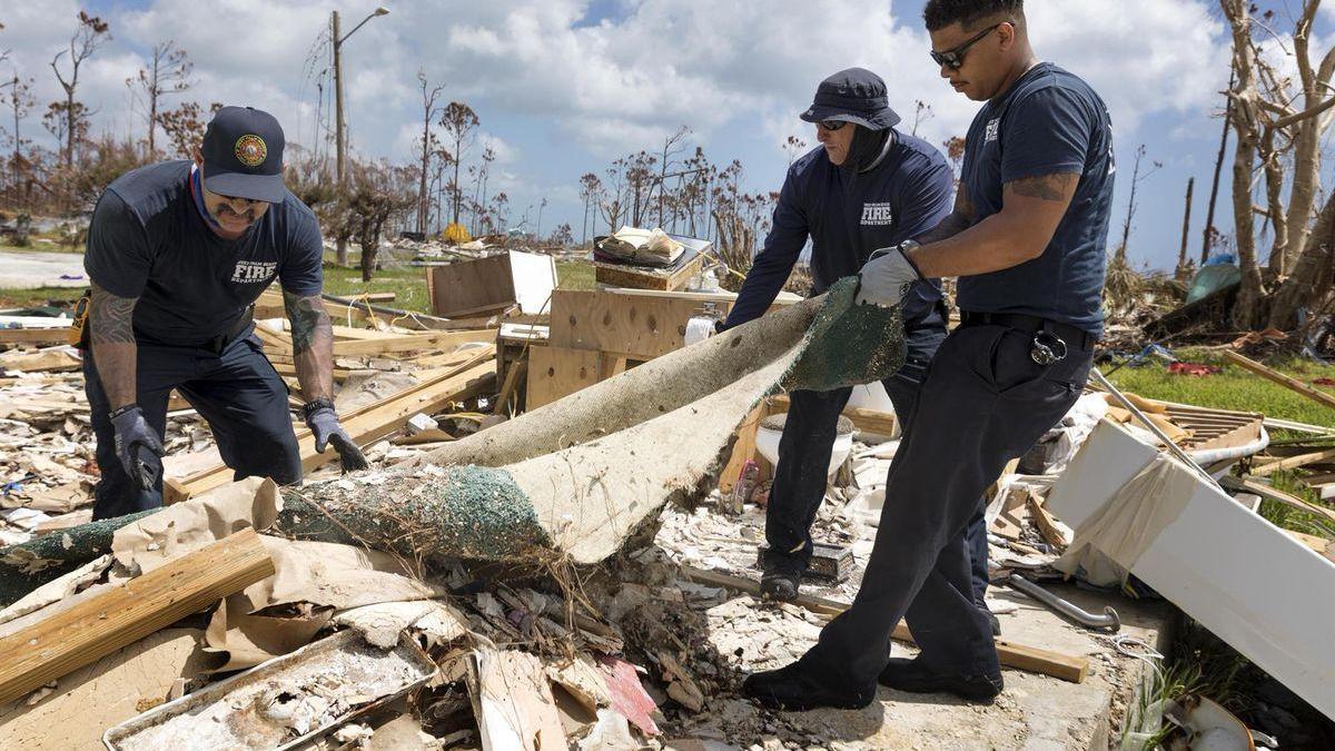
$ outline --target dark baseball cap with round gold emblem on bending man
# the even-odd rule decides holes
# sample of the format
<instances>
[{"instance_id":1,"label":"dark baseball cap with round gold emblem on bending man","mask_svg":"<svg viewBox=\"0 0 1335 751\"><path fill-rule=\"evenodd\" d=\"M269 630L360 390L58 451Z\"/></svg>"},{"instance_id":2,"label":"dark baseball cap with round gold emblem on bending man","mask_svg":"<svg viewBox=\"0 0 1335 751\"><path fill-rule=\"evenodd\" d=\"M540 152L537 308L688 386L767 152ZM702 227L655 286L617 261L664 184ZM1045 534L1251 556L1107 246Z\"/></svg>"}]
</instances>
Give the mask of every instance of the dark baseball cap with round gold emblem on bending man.
<instances>
[{"instance_id":1,"label":"dark baseball cap with round gold emblem on bending man","mask_svg":"<svg viewBox=\"0 0 1335 751\"><path fill-rule=\"evenodd\" d=\"M283 127L254 107L223 107L204 130L204 187L223 195L280 203Z\"/></svg>"}]
</instances>

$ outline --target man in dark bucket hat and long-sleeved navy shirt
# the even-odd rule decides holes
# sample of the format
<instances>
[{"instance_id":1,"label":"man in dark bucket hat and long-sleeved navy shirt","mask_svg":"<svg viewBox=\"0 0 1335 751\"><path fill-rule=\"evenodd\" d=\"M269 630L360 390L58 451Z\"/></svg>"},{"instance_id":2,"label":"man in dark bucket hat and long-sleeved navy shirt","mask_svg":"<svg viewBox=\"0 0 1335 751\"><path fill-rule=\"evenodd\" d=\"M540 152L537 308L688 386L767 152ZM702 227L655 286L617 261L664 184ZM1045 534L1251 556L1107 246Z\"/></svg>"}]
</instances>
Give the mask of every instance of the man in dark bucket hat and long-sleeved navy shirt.
<instances>
[{"instance_id":1,"label":"man in dark bucket hat and long-sleeved navy shirt","mask_svg":"<svg viewBox=\"0 0 1335 751\"><path fill-rule=\"evenodd\" d=\"M894 130L885 82L872 71L840 71L816 90L801 114L816 124L821 147L788 170L773 229L746 274L728 321L720 329L760 317L812 241L816 293L857 274L872 251L918 237L951 212L953 174L924 140ZM901 421L908 420L936 347L945 338L945 310L936 279L920 279L904 303L904 367L885 380ZM774 600L797 597L812 556L810 527L825 497L826 469L840 412L852 389L793 392L780 440L774 485L765 510L765 573L761 592ZM971 527L973 589L980 608L987 589L987 528L979 504ZM987 617L992 613L987 612Z\"/></svg>"}]
</instances>

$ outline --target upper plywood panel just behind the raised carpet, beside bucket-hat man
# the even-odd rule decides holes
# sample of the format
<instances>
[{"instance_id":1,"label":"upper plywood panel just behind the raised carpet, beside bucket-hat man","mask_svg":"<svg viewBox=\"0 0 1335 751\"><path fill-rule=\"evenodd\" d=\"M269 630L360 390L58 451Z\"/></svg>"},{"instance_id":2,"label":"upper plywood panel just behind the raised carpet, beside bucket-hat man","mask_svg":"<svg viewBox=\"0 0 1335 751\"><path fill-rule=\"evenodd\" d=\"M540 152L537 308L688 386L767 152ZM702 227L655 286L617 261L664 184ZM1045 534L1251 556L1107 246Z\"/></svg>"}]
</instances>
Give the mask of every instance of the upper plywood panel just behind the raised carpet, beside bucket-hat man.
<instances>
[{"instance_id":1,"label":"upper plywood panel just behind the raised carpet, beside bucket-hat man","mask_svg":"<svg viewBox=\"0 0 1335 751\"><path fill-rule=\"evenodd\" d=\"M710 311L722 317L732 302L649 297L618 291L557 290L551 295L553 346L601 350L653 359L685 346L686 321Z\"/></svg>"}]
</instances>

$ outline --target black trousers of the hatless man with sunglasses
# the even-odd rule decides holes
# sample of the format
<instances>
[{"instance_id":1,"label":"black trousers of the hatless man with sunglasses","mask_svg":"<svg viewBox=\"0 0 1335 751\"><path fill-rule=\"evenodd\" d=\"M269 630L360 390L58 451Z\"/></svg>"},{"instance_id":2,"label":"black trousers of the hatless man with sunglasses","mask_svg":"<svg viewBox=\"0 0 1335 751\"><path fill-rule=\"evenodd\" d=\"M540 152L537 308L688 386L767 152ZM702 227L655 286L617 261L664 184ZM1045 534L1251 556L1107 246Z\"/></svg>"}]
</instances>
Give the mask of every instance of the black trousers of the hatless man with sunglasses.
<instances>
[{"instance_id":1,"label":"black trousers of the hatless man with sunglasses","mask_svg":"<svg viewBox=\"0 0 1335 751\"><path fill-rule=\"evenodd\" d=\"M901 619L934 671L1000 671L973 601L967 529L980 493L1076 402L1093 361L1092 342L1068 341L1067 357L1043 366L1032 341L975 325L941 343L890 465L862 587L801 659L818 680L874 691Z\"/></svg>"}]
</instances>

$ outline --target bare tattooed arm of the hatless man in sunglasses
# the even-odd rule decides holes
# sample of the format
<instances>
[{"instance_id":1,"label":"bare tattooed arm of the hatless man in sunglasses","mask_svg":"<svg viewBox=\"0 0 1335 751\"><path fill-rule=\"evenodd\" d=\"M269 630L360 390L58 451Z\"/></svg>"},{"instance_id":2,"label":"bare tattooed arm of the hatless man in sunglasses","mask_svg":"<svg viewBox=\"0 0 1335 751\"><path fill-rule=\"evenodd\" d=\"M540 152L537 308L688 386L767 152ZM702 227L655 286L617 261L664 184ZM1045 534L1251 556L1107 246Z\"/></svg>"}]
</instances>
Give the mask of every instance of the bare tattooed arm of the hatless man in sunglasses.
<instances>
[{"instance_id":1,"label":"bare tattooed arm of the hatless man in sunglasses","mask_svg":"<svg viewBox=\"0 0 1335 751\"><path fill-rule=\"evenodd\" d=\"M1032 261L1052 242L1079 182L1080 175L1073 172L1012 180L1001 188L1001 211L930 245L924 238L918 241L922 247L908 255L924 277L988 274ZM956 212L959 207L957 200Z\"/></svg>"}]
</instances>

